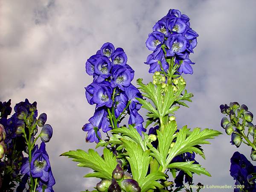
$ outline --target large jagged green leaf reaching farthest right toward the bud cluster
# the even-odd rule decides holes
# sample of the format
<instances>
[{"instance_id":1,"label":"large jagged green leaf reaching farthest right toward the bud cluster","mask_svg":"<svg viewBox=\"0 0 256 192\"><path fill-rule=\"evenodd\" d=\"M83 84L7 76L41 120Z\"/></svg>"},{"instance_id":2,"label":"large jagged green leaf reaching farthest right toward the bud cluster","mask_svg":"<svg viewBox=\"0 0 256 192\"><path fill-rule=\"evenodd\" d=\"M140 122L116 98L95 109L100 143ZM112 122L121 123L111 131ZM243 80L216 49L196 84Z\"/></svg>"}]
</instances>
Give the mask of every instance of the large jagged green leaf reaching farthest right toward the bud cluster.
<instances>
[{"instance_id":1,"label":"large jagged green leaf reaching farthest right toward the bud cluster","mask_svg":"<svg viewBox=\"0 0 256 192\"><path fill-rule=\"evenodd\" d=\"M204 152L201 151L199 148L195 147L195 145L210 144L209 141L207 141L207 139L213 139L215 136L221 134L221 132L219 131L215 131L208 128L204 129L203 131L201 131L201 128L195 128L191 133L189 132L189 129L186 126L184 126L177 133L177 140L175 142L175 145L169 152L169 155L166 159L166 166L164 167L167 167L174 157L185 152L195 152L204 157ZM189 136L186 137L187 135Z\"/></svg>"}]
</instances>

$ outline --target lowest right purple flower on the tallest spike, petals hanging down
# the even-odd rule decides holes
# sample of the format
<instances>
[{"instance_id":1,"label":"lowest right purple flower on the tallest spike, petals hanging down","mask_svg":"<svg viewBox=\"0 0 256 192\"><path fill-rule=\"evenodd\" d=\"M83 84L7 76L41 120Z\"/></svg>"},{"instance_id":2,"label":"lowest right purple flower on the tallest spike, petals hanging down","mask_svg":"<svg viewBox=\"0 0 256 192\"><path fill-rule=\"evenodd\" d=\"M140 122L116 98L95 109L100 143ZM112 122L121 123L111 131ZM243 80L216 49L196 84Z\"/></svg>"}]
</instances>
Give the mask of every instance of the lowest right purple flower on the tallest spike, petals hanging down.
<instances>
[{"instance_id":1,"label":"lowest right purple flower on the tallest spike, petals hanging down","mask_svg":"<svg viewBox=\"0 0 256 192\"><path fill-rule=\"evenodd\" d=\"M175 59L175 64L180 64L180 67L177 70L180 74L182 73L193 74L193 69L191 67L191 64L195 64L195 63L193 63L189 59L189 54L186 53L185 55L180 55L179 57L177 57Z\"/></svg>"}]
</instances>

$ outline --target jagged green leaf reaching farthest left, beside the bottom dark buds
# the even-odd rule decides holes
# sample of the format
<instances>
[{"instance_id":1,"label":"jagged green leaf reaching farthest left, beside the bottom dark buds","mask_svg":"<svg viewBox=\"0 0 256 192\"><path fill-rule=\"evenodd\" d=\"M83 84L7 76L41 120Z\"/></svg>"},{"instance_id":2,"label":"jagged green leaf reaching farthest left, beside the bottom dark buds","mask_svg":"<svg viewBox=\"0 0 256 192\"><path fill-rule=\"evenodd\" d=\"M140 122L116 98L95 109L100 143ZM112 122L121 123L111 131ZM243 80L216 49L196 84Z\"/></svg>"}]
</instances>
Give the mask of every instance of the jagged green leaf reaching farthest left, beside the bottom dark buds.
<instances>
[{"instance_id":1,"label":"jagged green leaf reaching farthest left, beside the bottom dark buds","mask_svg":"<svg viewBox=\"0 0 256 192\"><path fill-rule=\"evenodd\" d=\"M112 179L112 172L116 168L116 157L107 148L103 150L104 159L93 149L89 149L88 153L78 149L76 151L68 151L61 156L73 158L73 161L79 162L77 166L88 167L94 170L84 177L98 177L104 179Z\"/></svg>"}]
</instances>

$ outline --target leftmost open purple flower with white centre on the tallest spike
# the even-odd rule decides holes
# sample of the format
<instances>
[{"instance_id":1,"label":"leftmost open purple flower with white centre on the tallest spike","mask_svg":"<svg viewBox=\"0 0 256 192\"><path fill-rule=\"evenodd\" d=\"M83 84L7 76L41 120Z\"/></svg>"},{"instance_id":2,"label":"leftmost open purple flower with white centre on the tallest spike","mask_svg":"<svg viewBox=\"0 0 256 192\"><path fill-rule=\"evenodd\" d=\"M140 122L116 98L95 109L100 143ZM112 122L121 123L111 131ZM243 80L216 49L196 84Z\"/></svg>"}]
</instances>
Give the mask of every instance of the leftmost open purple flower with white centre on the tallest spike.
<instances>
[{"instance_id":1,"label":"leftmost open purple flower with white centre on the tallest spike","mask_svg":"<svg viewBox=\"0 0 256 192\"><path fill-rule=\"evenodd\" d=\"M159 31L154 31L148 35L146 46L149 50L154 51L157 45L163 44L164 34Z\"/></svg>"}]
</instances>

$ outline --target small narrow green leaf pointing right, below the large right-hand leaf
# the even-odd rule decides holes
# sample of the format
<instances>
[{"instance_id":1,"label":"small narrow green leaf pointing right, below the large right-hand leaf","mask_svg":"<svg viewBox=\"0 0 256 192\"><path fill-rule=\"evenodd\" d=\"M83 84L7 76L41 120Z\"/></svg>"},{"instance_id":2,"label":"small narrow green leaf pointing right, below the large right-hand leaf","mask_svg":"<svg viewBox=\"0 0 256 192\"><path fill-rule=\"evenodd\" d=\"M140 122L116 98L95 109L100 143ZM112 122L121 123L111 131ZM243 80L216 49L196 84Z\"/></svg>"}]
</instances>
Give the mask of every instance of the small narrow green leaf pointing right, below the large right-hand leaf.
<instances>
[{"instance_id":1,"label":"small narrow green leaf pointing right, below the large right-hand leaf","mask_svg":"<svg viewBox=\"0 0 256 192\"><path fill-rule=\"evenodd\" d=\"M209 172L207 172L204 168L201 167L199 164L193 164L195 161L188 161L188 162L177 162L177 163L171 163L167 166L169 169L180 169L184 171L186 174L188 174L190 177L192 177L192 172L201 175L207 175L211 177Z\"/></svg>"}]
</instances>

